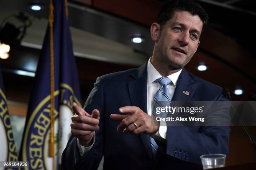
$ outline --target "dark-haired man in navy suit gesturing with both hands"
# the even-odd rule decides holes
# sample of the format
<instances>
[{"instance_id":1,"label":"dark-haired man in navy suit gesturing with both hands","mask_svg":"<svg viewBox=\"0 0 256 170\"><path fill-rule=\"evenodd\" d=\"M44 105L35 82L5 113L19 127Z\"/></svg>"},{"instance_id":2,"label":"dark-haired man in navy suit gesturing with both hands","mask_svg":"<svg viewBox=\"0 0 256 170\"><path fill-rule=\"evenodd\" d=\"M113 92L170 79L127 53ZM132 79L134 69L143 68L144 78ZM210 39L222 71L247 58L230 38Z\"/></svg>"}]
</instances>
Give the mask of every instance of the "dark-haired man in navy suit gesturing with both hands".
<instances>
[{"instance_id":1,"label":"dark-haired man in navy suit gesturing with both hands","mask_svg":"<svg viewBox=\"0 0 256 170\"><path fill-rule=\"evenodd\" d=\"M158 23L151 25L155 46L148 62L98 77L84 109L73 104L76 114L62 169L97 169L102 155L104 169L191 169L201 168L200 155L228 155L228 127L151 125L151 102L164 87L161 77L169 80L169 100L226 100L221 87L184 69L207 20L205 10L192 0L161 8Z\"/></svg>"}]
</instances>

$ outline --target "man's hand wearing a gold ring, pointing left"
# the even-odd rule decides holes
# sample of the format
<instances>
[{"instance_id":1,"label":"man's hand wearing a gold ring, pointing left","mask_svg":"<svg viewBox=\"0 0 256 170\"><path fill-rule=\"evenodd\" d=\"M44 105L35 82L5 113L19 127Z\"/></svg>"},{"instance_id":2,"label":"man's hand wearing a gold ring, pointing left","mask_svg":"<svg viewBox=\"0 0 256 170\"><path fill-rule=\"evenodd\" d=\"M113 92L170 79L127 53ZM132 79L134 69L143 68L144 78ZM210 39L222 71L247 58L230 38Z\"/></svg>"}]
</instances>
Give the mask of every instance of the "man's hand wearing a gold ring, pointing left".
<instances>
[{"instance_id":1,"label":"man's hand wearing a gold ring, pointing left","mask_svg":"<svg viewBox=\"0 0 256 170\"><path fill-rule=\"evenodd\" d=\"M117 127L118 132L123 131L125 134L131 133L131 135L138 135L140 133L154 135L159 130L159 123L156 120L152 122L151 116L143 112L139 107L120 107L119 112L128 115L110 115L111 119L122 121Z\"/></svg>"}]
</instances>

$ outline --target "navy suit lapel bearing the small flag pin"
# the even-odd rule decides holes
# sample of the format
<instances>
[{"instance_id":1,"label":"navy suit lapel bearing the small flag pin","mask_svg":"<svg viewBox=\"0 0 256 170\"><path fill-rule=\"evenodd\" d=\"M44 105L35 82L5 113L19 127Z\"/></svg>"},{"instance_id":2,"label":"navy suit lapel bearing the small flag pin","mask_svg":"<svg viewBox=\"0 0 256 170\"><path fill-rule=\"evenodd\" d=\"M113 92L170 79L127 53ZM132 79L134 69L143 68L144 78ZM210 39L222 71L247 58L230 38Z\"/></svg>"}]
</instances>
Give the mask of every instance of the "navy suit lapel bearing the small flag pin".
<instances>
[{"instance_id":1,"label":"navy suit lapel bearing the small flag pin","mask_svg":"<svg viewBox=\"0 0 256 170\"><path fill-rule=\"evenodd\" d=\"M177 84L175 87L172 100L173 101L191 100L195 93L195 89L196 89L196 84L194 80L192 80L192 78L189 76L185 68L183 68L177 80ZM189 95L184 94L183 91L189 92Z\"/></svg>"}]
</instances>

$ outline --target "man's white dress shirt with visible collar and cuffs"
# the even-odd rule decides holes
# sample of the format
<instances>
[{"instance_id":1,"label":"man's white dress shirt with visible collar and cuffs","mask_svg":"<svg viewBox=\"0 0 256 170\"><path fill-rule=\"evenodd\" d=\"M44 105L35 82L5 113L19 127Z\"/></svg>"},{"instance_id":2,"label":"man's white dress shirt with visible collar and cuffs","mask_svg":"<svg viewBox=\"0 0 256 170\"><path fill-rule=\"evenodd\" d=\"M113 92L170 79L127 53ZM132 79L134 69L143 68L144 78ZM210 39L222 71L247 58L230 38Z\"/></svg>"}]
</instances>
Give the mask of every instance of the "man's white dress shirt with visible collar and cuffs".
<instances>
[{"instance_id":1,"label":"man's white dress shirt with visible collar and cuffs","mask_svg":"<svg viewBox=\"0 0 256 170\"><path fill-rule=\"evenodd\" d=\"M162 77L160 73L155 69L155 67L151 64L151 58L148 60L147 64L147 71L148 71L148 82L147 82L147 111L148 115L151 116L152 106L151 103L154 101L154 95L156 94L157 90L160 89L161 85L156 81L159 77ZM172 80L172 83L167 85L167 88L170 92L171 97L173 97L174 90L176 87L177 80L179 78L179 75L181 73L182 69L178 72L173 73L172 75L167 76L170 80ZM161 121L162 122L162 121ZM166 132L167 127L166 124L160 124L159 131L150 136L154 138L155 140L158 140L160 142L165 142L166 140ZM79 148L80 155L84 155L87 151L89 151L95 141L95 133L93 135L93 143L89 147L84 147L79 143L79 140L77 139L77 146Z\"/></svg>"}]
</instances>

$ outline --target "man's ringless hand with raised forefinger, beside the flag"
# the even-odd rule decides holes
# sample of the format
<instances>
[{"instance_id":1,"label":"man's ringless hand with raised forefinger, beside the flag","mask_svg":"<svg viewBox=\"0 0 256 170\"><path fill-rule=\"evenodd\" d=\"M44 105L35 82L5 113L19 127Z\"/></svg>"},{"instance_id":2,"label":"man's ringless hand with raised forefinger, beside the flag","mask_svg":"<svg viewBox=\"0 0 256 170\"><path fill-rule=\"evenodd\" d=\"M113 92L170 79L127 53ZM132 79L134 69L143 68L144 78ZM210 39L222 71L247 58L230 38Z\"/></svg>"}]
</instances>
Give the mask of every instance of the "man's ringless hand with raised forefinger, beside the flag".
<instances>
[{"instance_id":1,"label":"man's ringless hand with raised forefinger, beside the flag","mask_svg":"<svg viewBox=\"0 0 256 170\"><path fill-rule=\"evenodd\" d=\"M75 102L73 102L72 108L75 115L71 118L71 133L79 139L79 143L82 146L88 147L91 145L95 130L100 129L100 112L95 109L92 111L92 115L90 115Z\"/></svg>"}]
</instances>

